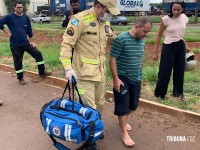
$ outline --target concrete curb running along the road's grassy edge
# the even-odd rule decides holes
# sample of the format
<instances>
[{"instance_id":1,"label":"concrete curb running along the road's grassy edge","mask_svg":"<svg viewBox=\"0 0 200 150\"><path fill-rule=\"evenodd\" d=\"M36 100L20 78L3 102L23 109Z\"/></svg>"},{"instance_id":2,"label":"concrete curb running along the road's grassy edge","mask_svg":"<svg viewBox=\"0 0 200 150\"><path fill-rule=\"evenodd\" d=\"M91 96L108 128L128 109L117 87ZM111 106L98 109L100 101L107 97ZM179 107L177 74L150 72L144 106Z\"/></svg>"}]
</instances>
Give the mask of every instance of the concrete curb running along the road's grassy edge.
<instances>
[{"instance_id":1,"label":"concrete curb running along the road's grassy edge","mask_svg":"<svg viewBox=\"0 0 200 150\"><path fill-rule=\"evenodd\" d=\"M0 63L0 70L15 73L14 67L5 65L5 64L1 64L1 63ZM32 72L32 71L26 70L26 71L24 71L24 75L29 78L36 79L36 80L42 81L46 84L50 84L50 85L60 87L60 88L64 88L65 84L66 84L66 80L61 79L61 78L52 77L52 76L41 79L41 77L39 77L37 73ZM109 98L113 99L113 93L111 91L106 92L106 99L109 99ZM178 117L183 120L188 120L188 119L197 120L197 121L200 120L199 113L174 108L171 106L159 104L157 102L145 100L142 98L140 98L140 107L149 108L151 110L154 110L154 111L157 111L160 113L169 114L171 116Z\"/></svg>"}]
</instances>

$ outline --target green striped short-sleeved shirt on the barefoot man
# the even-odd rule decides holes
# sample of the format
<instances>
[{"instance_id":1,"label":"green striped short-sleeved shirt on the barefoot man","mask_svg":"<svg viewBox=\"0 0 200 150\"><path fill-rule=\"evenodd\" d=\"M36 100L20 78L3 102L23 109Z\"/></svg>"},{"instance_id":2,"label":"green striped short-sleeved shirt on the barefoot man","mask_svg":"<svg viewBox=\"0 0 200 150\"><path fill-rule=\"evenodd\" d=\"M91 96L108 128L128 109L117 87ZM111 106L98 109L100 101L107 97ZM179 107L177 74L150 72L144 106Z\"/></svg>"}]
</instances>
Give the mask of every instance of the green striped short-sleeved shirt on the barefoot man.
<instances>
[{"instance_id":1,"label":"green striped short-sleeved shirt on the barefoot man","mask_svg":"<svg viewBox=\"0 0 200 150\"><path fill-rule=\"evenodd\" d=\"M144 45L144 39L137 40L128 31L114 39L110 55L116 58L118 75L127 76L134 81L142 79Z\"/></svg>"}]
</instances>

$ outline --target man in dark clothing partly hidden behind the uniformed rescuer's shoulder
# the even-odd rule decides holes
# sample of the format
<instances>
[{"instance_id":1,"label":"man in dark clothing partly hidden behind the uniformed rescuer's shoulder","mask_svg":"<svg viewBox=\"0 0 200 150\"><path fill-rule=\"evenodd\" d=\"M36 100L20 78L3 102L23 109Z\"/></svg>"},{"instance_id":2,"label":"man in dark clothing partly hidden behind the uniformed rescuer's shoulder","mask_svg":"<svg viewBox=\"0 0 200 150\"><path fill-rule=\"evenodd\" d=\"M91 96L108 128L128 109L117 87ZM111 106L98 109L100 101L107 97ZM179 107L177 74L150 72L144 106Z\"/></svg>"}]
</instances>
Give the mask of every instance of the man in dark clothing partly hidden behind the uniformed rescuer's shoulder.
<instances>
[{"instance_id":1,"label":"man in dark clothing partly hidden behind the uniformed rescuer's shoulder","mask_svg":"<svg viewBox=\"0 0 200 150\"><path fill-rule=\"evenodd\" d=\"M72 15L75 15L82 10L79 8L79 0L70 0L71 9L65 13L65 19L62 22L62 27L67 27Z\"/></svg>"}]
</instances>

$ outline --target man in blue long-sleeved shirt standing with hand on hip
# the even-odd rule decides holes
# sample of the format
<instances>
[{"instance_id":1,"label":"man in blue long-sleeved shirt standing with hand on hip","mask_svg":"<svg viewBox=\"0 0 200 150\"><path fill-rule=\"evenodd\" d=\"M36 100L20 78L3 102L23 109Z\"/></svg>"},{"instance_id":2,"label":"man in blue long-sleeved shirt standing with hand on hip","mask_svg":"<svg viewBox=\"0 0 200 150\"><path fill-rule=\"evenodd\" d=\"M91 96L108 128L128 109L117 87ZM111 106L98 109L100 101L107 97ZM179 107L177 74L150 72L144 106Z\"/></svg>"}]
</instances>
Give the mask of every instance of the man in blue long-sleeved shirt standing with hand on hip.
<instances>
[{"instance_id":1,"label":"man in blue long-sleeved shirt standing with hand on hip","mask_svg":"<svg viewBox=\"0 0 200 150\"><path fill-rule=\"evenodd\" d=\"M31 41L33 33L29 17L23 13L22 2L14 3L14 13L9 13L0 19L0 29L10 35L10 48L13 55L15 71L19 84L25 85L23 78L22 59L24 52L28 52L35 60L38 66L40 77L51 75L45 71L44 61L41 52L35 47L35 43ZM6 24L10 33L5 30ZM29 37L29 38L28 38Z\"/></svg>"}]
</instances>

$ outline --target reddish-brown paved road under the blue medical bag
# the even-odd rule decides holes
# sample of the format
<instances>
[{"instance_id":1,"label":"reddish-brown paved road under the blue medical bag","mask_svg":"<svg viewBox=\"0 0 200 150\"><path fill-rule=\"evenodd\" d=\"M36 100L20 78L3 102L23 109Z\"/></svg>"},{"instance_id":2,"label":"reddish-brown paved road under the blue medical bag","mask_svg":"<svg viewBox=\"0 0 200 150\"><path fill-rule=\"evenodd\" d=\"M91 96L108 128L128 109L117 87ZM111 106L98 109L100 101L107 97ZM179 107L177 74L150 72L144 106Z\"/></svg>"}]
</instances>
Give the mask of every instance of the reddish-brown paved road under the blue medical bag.
<instances>
[{"instance_id":1,"label":"reddish-brown paved road under the blue medical bag","mask_svg":"<svg viewBox=\"0 0 200 150\"><path fill-rule=\"evenodd\" d=\"M39 118L42 106L62 89L34 82L21 86L11 73L0 71L0 150L55 150L44 132ZM98 141L101 150L126 150L120 138L113 104L106 103L103 114L105 139ZM131 137L136 142L134 150L199 150L200 123L179 120L172 116L139 108L132 114ZM183 138L176 142L172 138ZM186 139L184 139L186 138ZM77 145L64 142L74 150Z\"/></svg>"}]
</instances>

